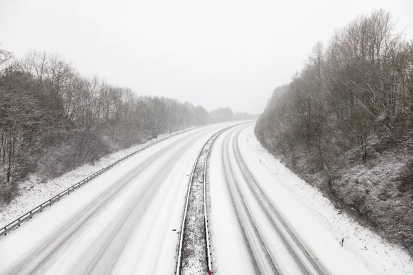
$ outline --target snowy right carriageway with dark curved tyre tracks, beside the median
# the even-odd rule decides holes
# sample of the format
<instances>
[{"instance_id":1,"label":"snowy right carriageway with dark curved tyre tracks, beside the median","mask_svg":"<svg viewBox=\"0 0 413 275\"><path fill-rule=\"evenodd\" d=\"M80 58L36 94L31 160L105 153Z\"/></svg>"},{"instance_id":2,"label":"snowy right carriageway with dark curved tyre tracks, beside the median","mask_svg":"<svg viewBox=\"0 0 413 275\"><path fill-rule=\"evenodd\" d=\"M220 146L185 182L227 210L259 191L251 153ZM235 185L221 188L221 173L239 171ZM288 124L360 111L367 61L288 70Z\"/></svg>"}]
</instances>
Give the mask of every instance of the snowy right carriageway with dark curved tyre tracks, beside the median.
<instances>
[{"instance_id":1,"label":"snowy right carriageway with dark curved tyre tracks, beside the median","mask_svg":"<svg viewBox=\"0 0 413 275\"><path fill-rule=\"evenodd\" d=\"M210 158L215 274L372 274L301 208L236 126Z\"/></svg>"}]
</instances>

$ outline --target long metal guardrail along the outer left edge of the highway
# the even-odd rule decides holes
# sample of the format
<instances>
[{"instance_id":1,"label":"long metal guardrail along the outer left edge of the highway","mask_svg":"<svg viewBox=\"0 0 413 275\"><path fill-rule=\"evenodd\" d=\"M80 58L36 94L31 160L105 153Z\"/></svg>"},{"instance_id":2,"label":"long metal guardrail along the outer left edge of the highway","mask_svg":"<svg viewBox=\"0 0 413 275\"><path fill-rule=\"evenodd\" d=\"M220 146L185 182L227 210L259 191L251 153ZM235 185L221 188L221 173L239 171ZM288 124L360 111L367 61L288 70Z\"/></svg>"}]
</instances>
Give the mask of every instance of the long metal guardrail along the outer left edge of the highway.
<instances>
[{"instance_id":1,"label":"long metal guardrail along the outer left edge of the highway","mask_svg":"<svg viewBox=\"0 0 413 275\"><path fill-rule=\"evenodd\" d=\"M206 125L202 125L202 126L206 126ZM198 129L201 126L197 126L191 129L187 129L187 130L183 130L180 131L178 133L174 133L173 135L169 135L169 137L173 137L176 135L180 135L182 133L186 133L187 131L191 131L194 129ZM164 140L169 139L169 137L165 137L162 140L158 140L157 142L153 142L143 148L140 148L137 151L134 151L128 155L126 155L125 157L122 157L120 159L118 159L116 162L113 162L112 164L109 164L108 166L106 166L105 168L102 168L100 170L98 170L97 172L93 173L92 175L89 175L88 177L85 177L85 179L82 179L81 181L78 181L76 184L70 186L69 188L63 190L62 192L60 192L59 194L55 195L54 197L52 197L51 199L47 199L47 201L41 203L39 206L36 206L35 208L33 208L32 210L28 211L27 213L21 215L19 218L15 219L14 221L12 221L11 223L8 223L8 225L4 226L3 228L0 228L0 236L3 235L7 235L8 232L10 232L11 230L13 230L14 228L18 228L20 227L21 223L23 223L23 221L26 221L28 219L32 219L32 217L34 216L34 214L38 213L38 212L42 212L44 208L46 208L47 206L52 206L53 203L55 203L56 201L59 201L61 199L61 197L64 197L65 195L69 195L70 192L73 192L75 189L83 186L84 184L86 184L87 182L91 181L92 179L94 179L95 177L97 177L98 175L104 173L105 171L109 170L110 168L116 166L119 162L123 162L125 159L131 157L132 155L136 155L137 153L140 153L142 151L144 151L145 149L158 144Z\"/></svg>"}]
</instances>

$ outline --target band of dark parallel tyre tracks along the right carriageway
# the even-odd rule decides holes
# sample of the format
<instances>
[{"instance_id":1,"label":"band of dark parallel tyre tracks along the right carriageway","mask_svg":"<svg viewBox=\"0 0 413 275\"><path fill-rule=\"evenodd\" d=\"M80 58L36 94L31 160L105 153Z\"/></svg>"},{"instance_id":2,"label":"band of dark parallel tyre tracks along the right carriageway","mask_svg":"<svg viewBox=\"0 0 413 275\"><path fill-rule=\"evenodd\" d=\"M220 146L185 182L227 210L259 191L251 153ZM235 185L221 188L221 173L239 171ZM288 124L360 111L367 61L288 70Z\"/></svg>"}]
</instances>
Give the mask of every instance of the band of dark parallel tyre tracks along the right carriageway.
<instances>
[{"instance_id":1,"label":"band of dark parallel tyre tracks along the right carriageway","mask_svg":"<svg viewBox=\"0 0 413 275\"><path fill-rule=\"evenodd\" d=\"M226 134L222 163L227 189L255 274L326 274L306 252L248 170L238 146L239 135L244 129L245 126L235 127ZM277 245L271 241L273 239L279 240ZM286 258L289 258L288 269L280 261Z\"/></svg>"}]
</instances>

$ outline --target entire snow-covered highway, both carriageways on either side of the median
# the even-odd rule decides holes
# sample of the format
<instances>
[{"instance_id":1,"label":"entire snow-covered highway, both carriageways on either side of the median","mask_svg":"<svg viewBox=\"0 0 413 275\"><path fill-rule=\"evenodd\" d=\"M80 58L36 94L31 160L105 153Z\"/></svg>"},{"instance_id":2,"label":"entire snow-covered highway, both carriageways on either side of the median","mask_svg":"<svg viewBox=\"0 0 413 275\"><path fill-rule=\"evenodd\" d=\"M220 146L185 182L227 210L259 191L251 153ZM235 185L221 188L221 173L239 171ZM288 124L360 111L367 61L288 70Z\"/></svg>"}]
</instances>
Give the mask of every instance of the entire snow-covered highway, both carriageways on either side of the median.
<instances>
[{"instance_id":1,"label":"entire snow-covered highway, both carriageways on either side of the median","mask_svg":"<svg viewBox=\"0 0 413 275\"><path fill-rule=\"evenodd\" d=\"M207 151L214 275L395 274L342 248L288 188L287 181L295 179L281 177L251 146L257 142L254 123L237 124L173 136L45 209L1 237L0 274L176 274L189 178L198 154L205 160ZM202 216L198 204L192 212ZM199 258L203 249L184 254ZM184 274L201 268L185 268Z\"/></svg>"}]
</instances>

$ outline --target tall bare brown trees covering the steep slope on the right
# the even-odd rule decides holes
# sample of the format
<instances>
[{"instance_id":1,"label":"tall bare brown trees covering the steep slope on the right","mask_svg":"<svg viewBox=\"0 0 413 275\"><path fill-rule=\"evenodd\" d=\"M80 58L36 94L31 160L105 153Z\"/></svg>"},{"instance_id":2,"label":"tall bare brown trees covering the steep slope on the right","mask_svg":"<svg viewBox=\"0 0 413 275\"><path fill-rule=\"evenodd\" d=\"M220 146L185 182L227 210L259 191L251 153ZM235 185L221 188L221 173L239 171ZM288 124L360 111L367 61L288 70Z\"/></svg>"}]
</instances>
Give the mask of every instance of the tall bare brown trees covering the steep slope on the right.
<instances>
[{"instance_id":1,"label":"tall bare brown trees covering the steep slope on the right","mask_svg":"<svg viewBox=\"0 0 413 275\"><path fill-rule=\"evenodd\" d=\"M370 173L389 151L412 159L412 117L413 42L396 32L389 12L374 10L337 30L328 45L315 45L304 69L274 91L255 134L299 175L413 252L412 162L400 177L383 173L354 184L342 177L356 166Z\"/></svg>"}]
</instances>

